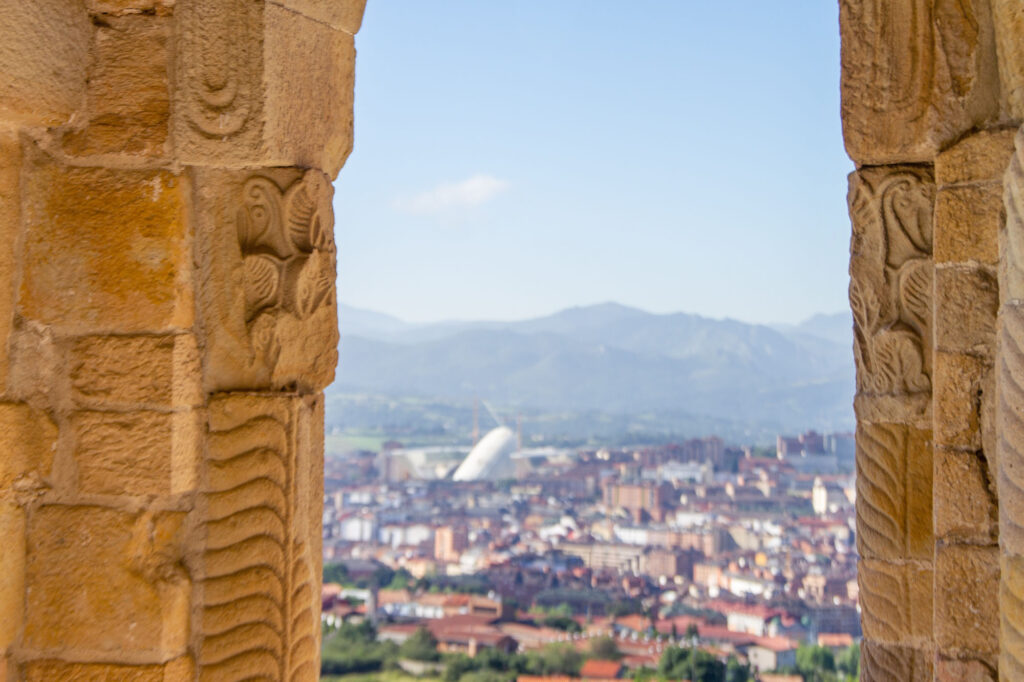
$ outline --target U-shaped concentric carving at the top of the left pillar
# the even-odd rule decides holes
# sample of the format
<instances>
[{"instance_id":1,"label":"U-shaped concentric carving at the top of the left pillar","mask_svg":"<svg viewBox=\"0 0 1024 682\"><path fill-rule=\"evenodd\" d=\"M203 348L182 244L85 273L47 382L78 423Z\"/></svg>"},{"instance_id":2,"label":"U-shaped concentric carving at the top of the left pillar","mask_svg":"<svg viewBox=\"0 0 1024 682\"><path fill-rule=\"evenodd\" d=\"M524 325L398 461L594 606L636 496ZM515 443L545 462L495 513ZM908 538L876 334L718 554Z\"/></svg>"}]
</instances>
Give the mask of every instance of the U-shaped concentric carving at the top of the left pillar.
<instances>
[{"instance_id":1,"label":"U-shaped concentric carving at the top of the left pillar","mask_svg":"<svg viewBox=\"0 0 1024 682\"><path fill-rule=\"evenodd\" d=\"M184 0L178 70L188 123L203 136L236 135L250 121L260 88L259 50L253 33L257 3L249 0Z\"/></svg>"}]
</instances>

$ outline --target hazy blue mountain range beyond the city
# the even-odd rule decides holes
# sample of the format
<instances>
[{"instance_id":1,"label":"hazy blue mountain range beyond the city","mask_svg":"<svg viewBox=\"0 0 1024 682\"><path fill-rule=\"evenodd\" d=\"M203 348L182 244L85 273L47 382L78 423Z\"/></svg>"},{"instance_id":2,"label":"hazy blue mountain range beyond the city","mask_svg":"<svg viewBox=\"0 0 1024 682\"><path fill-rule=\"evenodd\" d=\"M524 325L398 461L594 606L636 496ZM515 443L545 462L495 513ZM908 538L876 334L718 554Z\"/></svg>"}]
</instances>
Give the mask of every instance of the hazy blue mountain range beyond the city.
<instances>
[{"instance_id":1,"label":"hazy blue mountain range beyond the city","mask_svg":"<svg viewBox=\"0 0 1024 682\"><path fill-rule=\"evenodd\" d=\"M348 306L339 316L341 357L329 392L479 396L769 430L854 424L849 312L776 326L616 303L521 322L417 325Z\"/></svg>"}]
</instances>

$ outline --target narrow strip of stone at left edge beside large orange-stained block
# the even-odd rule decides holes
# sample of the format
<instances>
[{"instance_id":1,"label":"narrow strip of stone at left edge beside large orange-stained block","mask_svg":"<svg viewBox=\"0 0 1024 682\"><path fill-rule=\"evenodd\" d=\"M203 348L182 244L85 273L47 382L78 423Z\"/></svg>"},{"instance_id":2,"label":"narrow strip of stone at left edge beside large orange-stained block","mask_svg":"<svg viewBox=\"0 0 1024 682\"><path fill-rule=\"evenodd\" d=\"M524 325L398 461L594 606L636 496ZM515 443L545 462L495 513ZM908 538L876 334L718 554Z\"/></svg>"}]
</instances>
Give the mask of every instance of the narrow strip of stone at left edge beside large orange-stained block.
<instances>
[{"instance_id":1,"label":"narrow strip of stone at left edge beside large orange-stained block","mask_svg":"<svg viewBox=\"0 0 1024 682\"><path fill-rule=\"evenodd\" d=\"M7 383L7 348L14 313L14 252L22 217L22 145L17 135L0 132L0 395Z\"/></svg>"}]
</instances>

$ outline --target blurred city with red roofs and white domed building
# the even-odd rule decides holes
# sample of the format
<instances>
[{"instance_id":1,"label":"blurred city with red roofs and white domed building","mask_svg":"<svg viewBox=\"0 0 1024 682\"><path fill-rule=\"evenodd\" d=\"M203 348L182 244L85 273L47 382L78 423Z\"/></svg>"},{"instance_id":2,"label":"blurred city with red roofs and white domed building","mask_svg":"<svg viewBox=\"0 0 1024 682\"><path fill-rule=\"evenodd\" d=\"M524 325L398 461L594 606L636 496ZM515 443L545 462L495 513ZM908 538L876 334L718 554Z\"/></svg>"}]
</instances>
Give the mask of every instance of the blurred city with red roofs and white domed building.
<instances>
[{"instance_id":1,"label":"blurred city with red roofs and white domed building","mask_svg":"<svg viewBox=\"0 0 1024 682\"><path fill-rule=\"evenodd\" d=\"M521 433L329 455L325 673L358 670L361 638L364 670L390 655L451 680L855 679L852 433L582 449Z\"/></svg>"}]
</instances>

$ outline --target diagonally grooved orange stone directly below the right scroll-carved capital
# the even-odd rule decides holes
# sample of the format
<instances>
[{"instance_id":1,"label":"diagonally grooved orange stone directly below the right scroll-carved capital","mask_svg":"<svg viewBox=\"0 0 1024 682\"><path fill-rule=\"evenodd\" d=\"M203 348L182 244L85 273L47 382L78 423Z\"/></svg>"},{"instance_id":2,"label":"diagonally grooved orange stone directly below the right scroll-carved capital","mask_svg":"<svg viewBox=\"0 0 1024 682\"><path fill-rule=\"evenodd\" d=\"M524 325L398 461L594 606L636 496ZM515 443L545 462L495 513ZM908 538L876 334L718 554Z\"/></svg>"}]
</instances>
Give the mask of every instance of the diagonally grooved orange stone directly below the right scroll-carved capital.
<instances>
[{"instance_id":1,"label":"diagonally grooved orange stone directly below the right scroll-carved capital","mask_svg":"<svg viewBox=\"0 0 1024 682\"><path fill-rule=\"evenodd\" d=\"M870 559L930 559L932 434L901 424L857 426L857 551Z\"/></svg>"}]
</instances>

